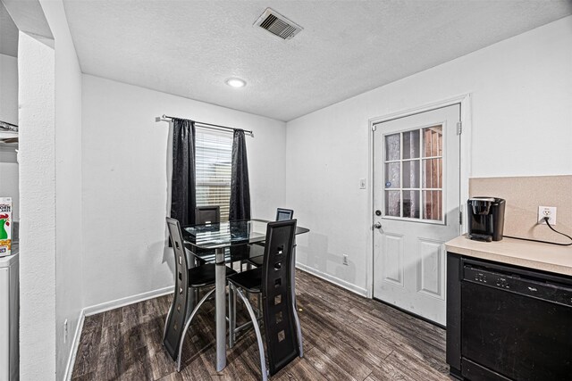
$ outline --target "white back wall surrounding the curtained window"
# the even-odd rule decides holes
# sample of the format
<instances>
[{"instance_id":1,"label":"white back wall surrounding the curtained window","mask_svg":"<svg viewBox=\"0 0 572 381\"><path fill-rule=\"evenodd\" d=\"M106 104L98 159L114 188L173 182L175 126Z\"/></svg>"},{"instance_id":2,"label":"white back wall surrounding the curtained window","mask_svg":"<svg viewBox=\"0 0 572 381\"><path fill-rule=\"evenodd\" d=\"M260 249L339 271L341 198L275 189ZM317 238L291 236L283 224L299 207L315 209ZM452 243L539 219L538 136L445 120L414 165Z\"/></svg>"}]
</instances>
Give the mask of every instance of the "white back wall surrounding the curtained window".
<instances>
[{"instance_id":1,"label":"white back wall surrounding the curtained window","mask_svg":"<svg viewBox=\"0 0 572 381\"><path fill-rule=\"evenodd\" d=\"M169 124L156 116L252 129L252 215L273 219L284 205L283 122L89 75L82 94L86 306L173 284L172 253L164 250Z\"/></svg>"}]
</instances>

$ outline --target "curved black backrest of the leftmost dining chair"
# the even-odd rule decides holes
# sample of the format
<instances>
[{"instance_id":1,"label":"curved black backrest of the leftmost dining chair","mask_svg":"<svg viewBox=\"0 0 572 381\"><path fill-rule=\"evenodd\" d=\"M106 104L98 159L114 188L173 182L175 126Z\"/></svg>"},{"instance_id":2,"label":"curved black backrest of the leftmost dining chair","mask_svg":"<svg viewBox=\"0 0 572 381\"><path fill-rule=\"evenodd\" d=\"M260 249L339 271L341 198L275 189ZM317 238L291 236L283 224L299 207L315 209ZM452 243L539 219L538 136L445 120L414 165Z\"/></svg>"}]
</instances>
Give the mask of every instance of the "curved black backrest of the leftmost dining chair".
<instances>
[{"instance_id":1,"label":"curved black backrest of the leftmost dining chair","mask_svg":"<svg viewBox=\"0 0 572 381\"><path fill-rule=\"evenodd\" d=\"M167 227L171 236L172 251L175 254L175 293L172 310L167 320L164 346L173 360L177 359L177 351L181 343L181 332L185 324L185 312L189 304L189 266L185 247L182 243L179 220L167 217Z\"/></svg>"}]
</instances>

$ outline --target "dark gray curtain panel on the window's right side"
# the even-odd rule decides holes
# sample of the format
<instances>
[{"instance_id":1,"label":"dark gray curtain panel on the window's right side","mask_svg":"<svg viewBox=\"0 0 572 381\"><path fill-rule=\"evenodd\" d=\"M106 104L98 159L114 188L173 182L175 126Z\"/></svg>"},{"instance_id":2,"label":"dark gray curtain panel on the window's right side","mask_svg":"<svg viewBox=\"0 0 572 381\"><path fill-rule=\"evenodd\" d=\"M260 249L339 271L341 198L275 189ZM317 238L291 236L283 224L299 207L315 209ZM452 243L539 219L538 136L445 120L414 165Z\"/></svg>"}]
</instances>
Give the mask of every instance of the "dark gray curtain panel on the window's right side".
<instances>
[{"instance_id":1,"label":"dark gray curtain panel on the window's right side","mask_svg":"<svg viewBox=\"0 0 572 381\"><path fill-rule=\"evenodd\" d=\"M248 185L247 146L244 131L234 130L232 140L231 207L229 219L250 219L250 186Z\"/></svg>"}]
</instances>

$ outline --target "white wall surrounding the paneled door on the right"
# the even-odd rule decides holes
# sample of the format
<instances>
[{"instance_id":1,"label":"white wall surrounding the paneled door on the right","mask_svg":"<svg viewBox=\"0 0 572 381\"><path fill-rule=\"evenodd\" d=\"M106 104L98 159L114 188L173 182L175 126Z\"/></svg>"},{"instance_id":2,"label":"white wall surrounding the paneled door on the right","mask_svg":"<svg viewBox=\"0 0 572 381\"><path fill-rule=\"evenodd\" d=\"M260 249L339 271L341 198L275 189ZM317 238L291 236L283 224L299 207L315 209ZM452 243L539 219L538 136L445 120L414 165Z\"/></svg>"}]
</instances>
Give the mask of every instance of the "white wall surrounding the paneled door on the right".
<instances>
[{"instance_id":1,"label":"white wall surrounding the paneled door on the right","mask_svg":"<svg viewBox=\"0 0 572 381\"><path fill-rule=\"evenodd\" d=\"M299 237L302 266L365 294L368 120L468 93L473 177L572 174L569 16L290 121L286 200L312 229Z\"/></svg>"}]
</instances>

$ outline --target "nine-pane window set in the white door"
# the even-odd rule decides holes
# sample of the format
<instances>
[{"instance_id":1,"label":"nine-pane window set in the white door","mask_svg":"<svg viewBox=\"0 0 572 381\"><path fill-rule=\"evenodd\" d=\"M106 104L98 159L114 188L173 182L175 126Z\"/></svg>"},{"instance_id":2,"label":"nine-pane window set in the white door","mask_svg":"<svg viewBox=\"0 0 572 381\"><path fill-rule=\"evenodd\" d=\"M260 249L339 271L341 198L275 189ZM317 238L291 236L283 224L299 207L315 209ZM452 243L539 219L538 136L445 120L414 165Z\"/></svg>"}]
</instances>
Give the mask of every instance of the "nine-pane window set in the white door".
<instances>
[{"instance_id":1,"label":"nine-pane window set in the white door","mask_svg":"<svg viewBox=\"0 0 572 381\"><path fill-rule=\"evenodd\" d=\"M385 136L385 216L443 220L442 129Z\"/></svg>"}]
</instances>

